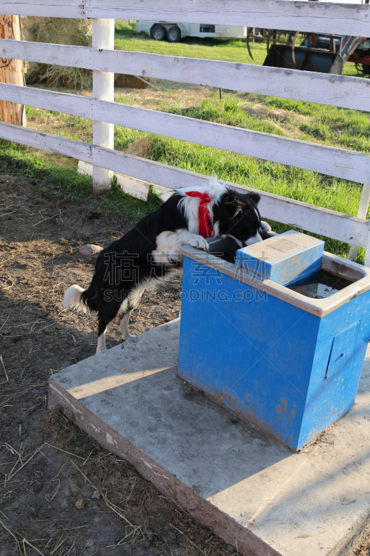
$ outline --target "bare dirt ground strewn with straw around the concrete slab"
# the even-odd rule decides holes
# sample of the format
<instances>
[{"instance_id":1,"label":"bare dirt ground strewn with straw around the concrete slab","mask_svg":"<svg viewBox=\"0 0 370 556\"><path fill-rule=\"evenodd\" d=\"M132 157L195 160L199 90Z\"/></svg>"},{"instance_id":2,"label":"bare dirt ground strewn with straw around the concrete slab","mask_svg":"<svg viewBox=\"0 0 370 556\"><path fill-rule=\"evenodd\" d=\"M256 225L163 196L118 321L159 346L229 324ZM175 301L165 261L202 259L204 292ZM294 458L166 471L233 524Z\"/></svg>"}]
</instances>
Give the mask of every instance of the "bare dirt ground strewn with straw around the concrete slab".
<instances>
[{"instance_id":1,"label":"bare dirt ground strewn with straw around the concrete slab","mask_svg":"<svg viewBox=\"0 0 370 556\"><path fill-rule=\"evenodd\" d=\"M91 211L91 199L51 195L0 174L0 556L231 555L126 461L47 409L56 371L94 354L96 317L62 309L70 284L87 286L94 258L130 227ZM131 332L176 318L180 278L145 295ZM108 347L121 342L119 323Z\"/></svg>"}]
</instances>

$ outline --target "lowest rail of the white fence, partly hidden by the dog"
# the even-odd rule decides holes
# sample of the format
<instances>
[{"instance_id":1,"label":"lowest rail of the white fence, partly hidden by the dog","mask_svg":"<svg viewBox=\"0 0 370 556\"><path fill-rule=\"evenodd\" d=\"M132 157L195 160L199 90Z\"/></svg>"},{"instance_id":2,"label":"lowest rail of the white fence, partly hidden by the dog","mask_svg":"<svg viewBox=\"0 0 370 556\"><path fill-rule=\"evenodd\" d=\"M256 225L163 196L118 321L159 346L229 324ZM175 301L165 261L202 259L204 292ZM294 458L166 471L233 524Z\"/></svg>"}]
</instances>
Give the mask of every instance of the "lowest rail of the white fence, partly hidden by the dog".
<instances>
[{"instance_id":1,"label":"lowest rail of the white fence, partly hidden by the dog","mask_svg":"<svg viewBox=\"0 0 370 556\"><path fill-rule=\"evenodd\" d=\"M0 137L47 152L78 158L78 160L90 162L113 172L125 174L142 181L149 181L149 183L155 183L169 189L185 186L197 188L206 185L210 179L207 176L188 170L180 170L137 156L49 135L49 133L20 128L12 124L4 124L3 122L0 122ZM242 191L257 191L238 186L235 183L224 183ZM258 190L258 193L261 195L260 209L263 218L290 224L359 247L366 247L367 245L369 235L369 222L367 220L294 201L293 199L286 199L264 191Z\"/></svg>"}]
</instances>

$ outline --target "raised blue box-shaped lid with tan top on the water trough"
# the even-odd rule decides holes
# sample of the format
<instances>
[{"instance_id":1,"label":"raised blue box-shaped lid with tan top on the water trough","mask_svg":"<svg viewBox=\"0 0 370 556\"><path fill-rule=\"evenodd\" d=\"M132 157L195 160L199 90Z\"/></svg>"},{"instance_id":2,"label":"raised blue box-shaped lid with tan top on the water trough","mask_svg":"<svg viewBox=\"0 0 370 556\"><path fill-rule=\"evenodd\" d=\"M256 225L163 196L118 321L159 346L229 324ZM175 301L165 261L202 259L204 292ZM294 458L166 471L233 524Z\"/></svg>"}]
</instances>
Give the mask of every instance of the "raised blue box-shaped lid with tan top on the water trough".
<instances>
[{"instance_id":1,"label":"raised blue box-shaped lid with tan top on the water trough","mask_svg":"<svg viewBox=\"0 0 370 556\"><path fill-rule=\"evenodd\" d=\"M322 240L289 230L237 250L235 264L258 280L289 286L319 272L323 246Z\"/></svg>"}]
</instances>

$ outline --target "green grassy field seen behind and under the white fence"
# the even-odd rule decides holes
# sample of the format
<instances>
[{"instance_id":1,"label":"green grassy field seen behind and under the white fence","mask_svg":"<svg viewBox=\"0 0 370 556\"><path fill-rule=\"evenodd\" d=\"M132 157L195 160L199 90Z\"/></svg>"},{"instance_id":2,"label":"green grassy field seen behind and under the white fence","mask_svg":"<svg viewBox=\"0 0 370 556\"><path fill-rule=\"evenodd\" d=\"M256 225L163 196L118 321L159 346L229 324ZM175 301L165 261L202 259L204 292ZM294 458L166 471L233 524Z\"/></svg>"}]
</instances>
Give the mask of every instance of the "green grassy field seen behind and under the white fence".
<instances>
[{"instance_id":1,"label":"green grassy field seen behind and under the white fence","mask_svg":"<svg viewBox=\"0 0 370 556\"><path fill-rule=\"evenodd\" d=\"M257 42L253 48L253 62L242 40L186 40L169 44L133 34L132 26L119 23L116 25L116 43L122 49L246 63L262 63L265 56L265 45ZM217 90L174 89L173 85L170 87L166 82L160 83L160 87L161 92L120 90L116 92L116 101L358 152L369 152L370 123L367 113L236 92L224 92L225 111L219 112ZM35 108L27 108L27 117L28 126L34 129L92 141L91 120ZM115 149L124 150L129 146L133 154L194 172L217 174L221 179L335 211L354 215L358 210L361 189L350 181L116 127ZM90 195L91 179L78 177L76 164L76 161L62 156L1 142L0 170L20 170L33 177L43 176L56 193L65 191L69 195ZM91 202L104 204L110 210L119 210L125 206L136 215L144 215L158 203L157 199L152 199L150 204L138 202L119 193L117 188ZM274 229L283 231L287 227L274 224ZM327 241L326 249L342 256L348 254L348 245L334 240ZM363 261L363 257L363 250L360 250L358 261Z\"/></svg>"}]
</instances>

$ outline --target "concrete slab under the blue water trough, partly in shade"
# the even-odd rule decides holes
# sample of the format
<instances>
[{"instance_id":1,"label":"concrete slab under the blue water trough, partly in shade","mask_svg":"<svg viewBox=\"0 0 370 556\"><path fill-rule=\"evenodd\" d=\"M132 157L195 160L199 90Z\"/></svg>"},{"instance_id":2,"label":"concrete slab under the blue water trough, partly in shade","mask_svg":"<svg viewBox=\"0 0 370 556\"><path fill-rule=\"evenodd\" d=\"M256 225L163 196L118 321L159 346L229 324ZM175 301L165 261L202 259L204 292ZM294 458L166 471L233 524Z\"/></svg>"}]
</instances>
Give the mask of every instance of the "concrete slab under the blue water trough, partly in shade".
<instances>
[{"instance_id":1,"label":"concrete slab under the blue water trough, partly in shade","mask_svg":"<svg viewBox=\"0 0 370 556\"><path fill-rule=\"evenodd\" d=\"M353 409L298 453L176 376L179 320L49 380L57 404L226 542L345 556L370 530L370 351Z\"/></svg>"}]
</instances>

